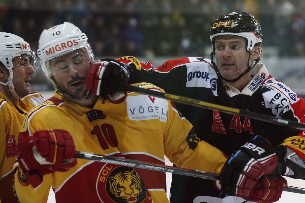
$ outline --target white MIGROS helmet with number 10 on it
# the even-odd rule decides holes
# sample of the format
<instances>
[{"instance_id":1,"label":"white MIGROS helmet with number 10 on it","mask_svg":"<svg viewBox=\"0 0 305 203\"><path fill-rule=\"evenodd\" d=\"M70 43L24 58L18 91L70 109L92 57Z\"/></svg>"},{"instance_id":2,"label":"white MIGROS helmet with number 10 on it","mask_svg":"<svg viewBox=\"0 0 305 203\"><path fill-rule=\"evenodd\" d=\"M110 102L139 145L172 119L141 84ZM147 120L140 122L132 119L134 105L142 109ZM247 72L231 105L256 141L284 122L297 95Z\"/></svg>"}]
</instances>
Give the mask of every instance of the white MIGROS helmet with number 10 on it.
<instances>
[{"instance_id":1,"label":"white MIGROS helmet with number 10 on it","mask_svg":"<svg viewBox=\"0 0 305 203\"><path fill-rule=\"evenodd\" d=\"M86 34L82 33L77 26L70 22L53 26L44 30L39 38L38 57L41 60L41 69L48 77L66 69L52 68L48 63L52 58L67 54L71 51L84 48L87 51L90 61L93 60L93 51L88 44ZM84 60L88 62L88 60ZM52 81L54 84L54 81ZM54 84L56 86L56 84Z\"/></svg>"}]
</instances>

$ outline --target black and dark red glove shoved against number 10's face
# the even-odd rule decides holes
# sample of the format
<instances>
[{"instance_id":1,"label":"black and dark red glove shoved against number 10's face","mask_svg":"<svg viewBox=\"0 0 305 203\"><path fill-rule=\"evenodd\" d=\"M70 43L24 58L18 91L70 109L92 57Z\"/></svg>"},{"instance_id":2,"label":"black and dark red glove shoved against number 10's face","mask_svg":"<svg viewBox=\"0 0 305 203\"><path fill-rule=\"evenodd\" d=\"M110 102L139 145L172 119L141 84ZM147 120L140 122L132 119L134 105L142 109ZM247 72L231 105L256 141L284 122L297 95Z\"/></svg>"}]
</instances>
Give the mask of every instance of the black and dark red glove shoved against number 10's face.
<instances>
[{"instance_id":1,"label":"black and dark red glove shoved against number 10's face","mask_svg":"<svg viewBox=\"0 0 305 203\"><path fill-rule=\"evenodd\" d=\"M95 95L107 97L113 103L121 103L127 94L121 84L128 84L131 68L114 59L96 61L87 73L86 88Z\"/></svg>"}]
</instances>

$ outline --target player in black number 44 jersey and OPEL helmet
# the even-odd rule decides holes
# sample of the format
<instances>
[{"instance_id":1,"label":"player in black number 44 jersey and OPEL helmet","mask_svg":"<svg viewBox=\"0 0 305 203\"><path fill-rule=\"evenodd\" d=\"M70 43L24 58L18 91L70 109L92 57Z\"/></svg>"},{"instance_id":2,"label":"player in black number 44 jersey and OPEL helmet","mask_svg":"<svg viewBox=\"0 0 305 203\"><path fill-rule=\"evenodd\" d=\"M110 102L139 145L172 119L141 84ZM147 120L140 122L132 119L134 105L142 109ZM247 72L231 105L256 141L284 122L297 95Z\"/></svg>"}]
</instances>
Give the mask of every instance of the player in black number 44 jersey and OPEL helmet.
<instances>
[{"instance_id":1,"label":"player in black number 44 jersey and OPEL helmet","mask_svg":"<svg viewBox=\"0 0 305 203\"><path fill-rule=\"evenodd\" d=\"M263 34L255 17L247 12L223 14L212 24L210 39L213 46L211 60L201 57L180 58L166 61L158 67L131 56L118 60L136 70L135 82L147 81L168 93L304 122L304 100L272 77L264 64L258 63ZM107 77L104 76L105 79ZM99 91L102 93L107 88L116 87L101 85ZM225 196L236 194L236 188L240 188L236 182L230 183L228 178L238 179L239 175L232 171L248 159L243 153L234 153L245 142L249 142L253 135L267 138L276 151L278 166L274 175L305 178L304 131L181 103L176 103L176 106L192 123L199 138L223 151L231 157L231 162L227 162L222 170L223 192L211 180L173 174L171 203L245 202L239 197ZM285 183L280 176L265 178L260 182L262 185L270 181L278 185ZM277 201L281 193L280 190L250 193L243 198L271 202Z\"/></svg>"}]
</instances>

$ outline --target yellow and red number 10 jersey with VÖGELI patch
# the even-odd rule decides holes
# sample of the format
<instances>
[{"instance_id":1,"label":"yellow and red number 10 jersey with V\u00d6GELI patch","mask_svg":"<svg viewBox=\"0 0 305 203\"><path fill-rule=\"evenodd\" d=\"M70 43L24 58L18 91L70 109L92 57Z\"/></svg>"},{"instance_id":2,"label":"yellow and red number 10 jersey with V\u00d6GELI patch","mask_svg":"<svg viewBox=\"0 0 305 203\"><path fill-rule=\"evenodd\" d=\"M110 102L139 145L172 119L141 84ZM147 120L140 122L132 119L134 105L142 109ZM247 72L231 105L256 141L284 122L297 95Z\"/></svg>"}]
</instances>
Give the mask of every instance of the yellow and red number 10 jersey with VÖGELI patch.
<instances>
[{"instance_id":1,"label":"yellow and red number 10 jersey with V\u00d6GELI patch","mask_svg":"<svg viewBox=\"0 0 305 203\"><path fill-rule=\"evenodd\" d=\"M149 83L134 85L163 91ZM55 93L29 112L21 132L31 136L43 129L70 132L78 151L158 164L164 164L165 154L180 167L213 173L220 173L226 161L221 151L196 137L173 103L133 92L120 104L100 97L93 108ZM165 173L85 159L77 159L67 172L45 175L37 188L20 168L14 179L20 202L40 202L51 186L57 203L168 202Z\"/></svg>"}]
</instances>

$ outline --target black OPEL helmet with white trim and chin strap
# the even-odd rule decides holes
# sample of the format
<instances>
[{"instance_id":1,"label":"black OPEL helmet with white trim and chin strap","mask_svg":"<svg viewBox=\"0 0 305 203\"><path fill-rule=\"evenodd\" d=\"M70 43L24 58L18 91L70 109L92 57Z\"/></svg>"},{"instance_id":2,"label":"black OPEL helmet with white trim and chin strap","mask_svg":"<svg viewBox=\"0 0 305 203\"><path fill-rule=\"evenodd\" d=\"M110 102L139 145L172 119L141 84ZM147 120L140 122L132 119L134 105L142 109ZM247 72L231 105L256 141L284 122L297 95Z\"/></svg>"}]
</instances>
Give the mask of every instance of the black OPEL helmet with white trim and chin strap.
<instances>
[{"instance_id":1,"label":"black OPEL helmet with white trim and chin strap","mask_svg":"<svg viewBox=\"0 0 305 203\"><path fill-rule=\"evenodd\" d=\"M219 73L217 65L213 61L213 55L215 55L215 38L220 35L236 35L244 37L247 40L247 51L249 52L248 67L245 72L239 75L235 79L224 79ZM256 43L261 48L261 42L263 41L263 34L260 28L260 24L257 19L248 12L232 12L221 15L211 26L210 39L212 40L213 52L211 53L211 60L214 65L217 75L223 78L227 82L236 82L260 61L260 57L255 61L254 65L250 66L250 55L252 49Z\"/></svg>"}]
</instances>

